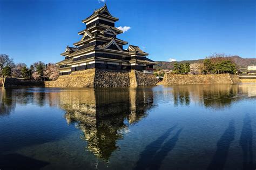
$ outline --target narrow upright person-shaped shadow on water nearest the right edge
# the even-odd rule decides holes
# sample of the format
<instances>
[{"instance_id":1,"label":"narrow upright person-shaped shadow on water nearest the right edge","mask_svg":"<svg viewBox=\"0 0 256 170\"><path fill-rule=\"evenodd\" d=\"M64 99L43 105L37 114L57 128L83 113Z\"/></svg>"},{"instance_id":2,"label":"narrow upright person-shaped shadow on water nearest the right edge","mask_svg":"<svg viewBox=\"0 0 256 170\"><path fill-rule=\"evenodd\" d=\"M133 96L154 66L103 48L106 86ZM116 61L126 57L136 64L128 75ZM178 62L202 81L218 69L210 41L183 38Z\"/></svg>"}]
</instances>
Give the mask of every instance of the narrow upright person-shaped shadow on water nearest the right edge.
<instances>
[{"instance_id":1,"label":"narrow upright person-shaped shadow on water nearest the right edge","mask_svg":"<svg viewBox=\"0 0 256 170\"><path fill-rule=\"evenodd\" d=\"M243 152L243 169L253 169L253 149L252 149L252 121L248 114L245 115L244 124L240 137L240 146Z\"/></svg>"}]
</instances>

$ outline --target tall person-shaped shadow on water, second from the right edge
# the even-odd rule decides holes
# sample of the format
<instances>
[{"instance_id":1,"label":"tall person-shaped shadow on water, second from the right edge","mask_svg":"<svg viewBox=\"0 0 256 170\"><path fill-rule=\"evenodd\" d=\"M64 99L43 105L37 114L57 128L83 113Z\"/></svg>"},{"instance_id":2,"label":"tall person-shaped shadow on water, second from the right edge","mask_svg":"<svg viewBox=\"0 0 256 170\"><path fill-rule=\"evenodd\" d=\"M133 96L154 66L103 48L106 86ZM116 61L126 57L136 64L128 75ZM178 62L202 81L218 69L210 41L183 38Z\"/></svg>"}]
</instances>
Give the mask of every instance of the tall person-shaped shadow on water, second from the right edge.
<instances>
[{"instance_id":1,"label":"tall person-shaped shadow on water, second from the right edge","mask_svg":"<svg viewBox=\"0 0 256 170\"><path fill-rule=\"evenodd\" d=\"M227 160L228 149L234 140L235 128L234 120L231 120L226 131L217 142L217 151L215 152L208 169L223 169Z\"/></svg>"}]
</instances>

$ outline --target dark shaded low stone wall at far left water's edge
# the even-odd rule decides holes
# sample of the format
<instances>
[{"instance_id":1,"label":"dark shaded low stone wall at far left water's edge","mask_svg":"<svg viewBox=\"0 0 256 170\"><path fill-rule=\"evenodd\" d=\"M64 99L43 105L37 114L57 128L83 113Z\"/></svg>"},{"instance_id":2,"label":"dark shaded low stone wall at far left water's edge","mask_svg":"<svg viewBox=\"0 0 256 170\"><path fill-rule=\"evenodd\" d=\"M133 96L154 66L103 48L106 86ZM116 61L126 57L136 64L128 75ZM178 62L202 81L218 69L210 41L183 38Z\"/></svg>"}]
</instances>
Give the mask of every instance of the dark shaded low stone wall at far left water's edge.
<instances>
[{"instance_id":1,"label":"dark shaded low stone wall at far left water's edge","mask_svg":"<svg viewBox=\"0 0 256 170\"><path fill-rule=\"evenodd\" d=\"M5 77L3 80L4 87L16 86L44 86L44 81L23 80L12 77Z\"/></svg>"}]
</instances>

